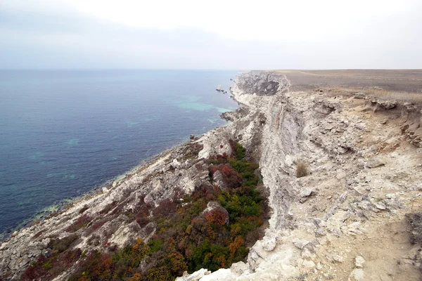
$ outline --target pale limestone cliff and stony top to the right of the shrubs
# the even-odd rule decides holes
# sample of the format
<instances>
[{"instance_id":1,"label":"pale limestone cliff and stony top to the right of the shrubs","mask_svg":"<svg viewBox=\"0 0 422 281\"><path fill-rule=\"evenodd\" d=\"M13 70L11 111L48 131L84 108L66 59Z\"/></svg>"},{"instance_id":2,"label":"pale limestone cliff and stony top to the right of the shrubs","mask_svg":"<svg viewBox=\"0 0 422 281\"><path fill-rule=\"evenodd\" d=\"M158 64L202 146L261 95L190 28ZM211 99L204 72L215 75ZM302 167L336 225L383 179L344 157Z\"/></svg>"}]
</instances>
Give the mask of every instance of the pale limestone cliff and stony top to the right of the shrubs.
<instances>
[{"instance_id":1,"label":"pale limestone cliff and stony top to the right of the shrubs","mask_svg":"<svg viewBox=\"0 0 422 281\"><path fill-rule=\"evenodd\" d=\"M231 89L243 107L226 115L226 130L260 162L272 209L265 237L247 262L181 280L418 280L405 214L422 203L420 108L289 86L283 74L243 74ZM296 176L299 162L308 176Z\"/></svg>"}]
</instances>

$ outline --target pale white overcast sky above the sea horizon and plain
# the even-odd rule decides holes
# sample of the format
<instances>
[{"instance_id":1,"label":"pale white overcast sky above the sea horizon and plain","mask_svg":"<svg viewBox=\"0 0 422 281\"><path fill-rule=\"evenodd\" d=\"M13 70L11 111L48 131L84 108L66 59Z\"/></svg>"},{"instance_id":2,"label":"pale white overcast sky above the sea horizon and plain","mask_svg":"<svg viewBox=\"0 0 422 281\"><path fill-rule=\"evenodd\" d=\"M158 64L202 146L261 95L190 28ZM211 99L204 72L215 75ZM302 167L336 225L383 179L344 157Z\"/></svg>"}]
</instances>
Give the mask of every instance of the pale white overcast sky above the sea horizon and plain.
<instances>
[{"instance_id":1,"label":"pale white overcast sky above the sea horizon and plain","mask_svg":"<svg viewBox=\"0 0 422 281\"><path fill-rule=\"evenodd\" d=\"M422 68L422 1L0 0L12 68Z\"/></svg>"}]
</instances>

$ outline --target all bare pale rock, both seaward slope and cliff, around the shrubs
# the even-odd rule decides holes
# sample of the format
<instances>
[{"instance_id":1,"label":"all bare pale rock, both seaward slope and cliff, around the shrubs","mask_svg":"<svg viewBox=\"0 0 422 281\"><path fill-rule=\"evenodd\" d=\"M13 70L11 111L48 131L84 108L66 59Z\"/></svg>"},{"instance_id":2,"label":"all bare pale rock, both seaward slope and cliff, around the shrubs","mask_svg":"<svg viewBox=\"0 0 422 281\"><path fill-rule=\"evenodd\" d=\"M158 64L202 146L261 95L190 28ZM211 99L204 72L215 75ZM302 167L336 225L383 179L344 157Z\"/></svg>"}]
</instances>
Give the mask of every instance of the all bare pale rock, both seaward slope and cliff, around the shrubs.
<instances>
[{"instance_id":1,"label":"all bare pale rock, both seaward slope and cliff, around the shrubs","mask_svg":"<svg viewBox=\"0 0 422 281\"><path fill-rule=\"evenodd\" d=\"M224 114L231 124L20 231L0 246L0 276L19 280L49 251L51 237L69 235L82 215L108 219L93 233L76 230L75 248L148 241L154 223L141 228L117 210L134 212L140 198L158 206L177 190L192 192L208 179L203 159L230 154L229 140L237 139L260 164L271 207L265 236L246 262L181 280L418 280L421 248L409 242L405 214L422 204L420 108L362 93L292 92L288 77L276 72L250 72L235 82L231 91L243 106ZM298 178L300 162L309 173Z\"/></svg>"}]
</instances>

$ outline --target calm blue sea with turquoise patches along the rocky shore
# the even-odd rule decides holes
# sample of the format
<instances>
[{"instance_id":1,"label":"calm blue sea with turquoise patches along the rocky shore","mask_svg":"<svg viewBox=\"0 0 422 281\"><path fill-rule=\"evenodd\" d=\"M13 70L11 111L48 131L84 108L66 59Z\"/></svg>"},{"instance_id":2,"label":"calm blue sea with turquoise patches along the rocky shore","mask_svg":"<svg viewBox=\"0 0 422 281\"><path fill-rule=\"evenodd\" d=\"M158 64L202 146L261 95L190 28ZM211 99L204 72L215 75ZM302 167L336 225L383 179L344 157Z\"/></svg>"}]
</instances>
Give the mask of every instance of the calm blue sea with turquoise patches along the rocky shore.
<instances>
[{"instance_id":1,"label":"calm blue sea with turquoise patches along the rocky shore","mask_svg":"<svg viewBox=\"0 0 422 281\"><path fill-rule=\"evenodd\" d=\"M0 71L0 233L225 124L235 71Z\"/></svg>"}]
</instances>

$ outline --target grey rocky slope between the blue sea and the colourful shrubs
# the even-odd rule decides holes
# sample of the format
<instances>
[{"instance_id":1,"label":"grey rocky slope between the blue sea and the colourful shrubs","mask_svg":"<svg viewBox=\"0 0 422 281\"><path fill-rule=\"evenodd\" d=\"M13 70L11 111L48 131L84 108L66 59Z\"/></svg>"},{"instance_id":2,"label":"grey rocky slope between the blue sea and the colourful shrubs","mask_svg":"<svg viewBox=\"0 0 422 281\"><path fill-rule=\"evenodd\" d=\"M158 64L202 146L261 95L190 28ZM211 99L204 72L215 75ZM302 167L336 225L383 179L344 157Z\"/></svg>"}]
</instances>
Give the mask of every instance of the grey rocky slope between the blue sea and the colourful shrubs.
<instances>
[{"instance_id":1,"label":"grey rocky slope between the blue sea and the colourful shrubs","mask_svg":"<svg viewBox=\"0 0 422 281\"><path fill-rule=\"evenodd\" d=\"M164 152L105 191L77 200L62 213L20 230L0 246L0 277L21 280L30 263L51 251L51 241L72 235L77 237L72 247L81 251L124 247L138 237L148 242L156 223L144 225L130 217L143 211L143 205L157 207L164 200L181 200L182 194L190 194L208 181L208 166L197 157L200 150L203 145L191 141ZM58 280L66 276L63 273Z\"/></svg>"}]
</instances>

